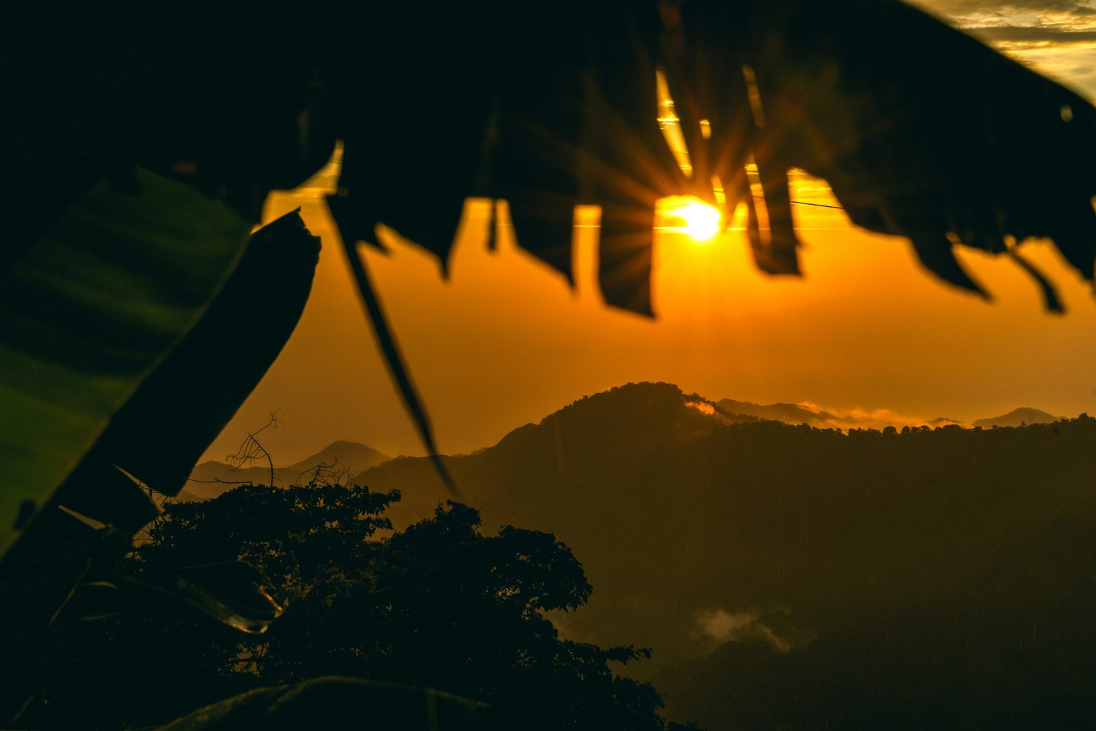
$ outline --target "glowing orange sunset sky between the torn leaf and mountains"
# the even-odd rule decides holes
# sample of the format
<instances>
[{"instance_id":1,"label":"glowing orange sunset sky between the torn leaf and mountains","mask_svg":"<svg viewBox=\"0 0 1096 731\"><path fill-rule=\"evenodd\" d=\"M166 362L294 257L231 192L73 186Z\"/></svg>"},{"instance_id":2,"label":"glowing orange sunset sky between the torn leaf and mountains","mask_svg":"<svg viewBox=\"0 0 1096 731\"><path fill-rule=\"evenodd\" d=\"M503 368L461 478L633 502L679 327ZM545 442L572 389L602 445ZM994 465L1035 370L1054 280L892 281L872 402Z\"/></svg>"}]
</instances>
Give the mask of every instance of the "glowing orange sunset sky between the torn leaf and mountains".
<instances>
[{"instance_id":1,"label":"glowing orange sunset sky between the torn leaf and mountains","mask_svg":"<svg viewBox=\"0 0 1096 731\"><path fill-rule=\"evenodd\" d=\"M961 21L974 11L984 19L994 3L921 4ZM1093 45L1070 39L1034 50L1096 98L1087 77L1061 73L1096 67ZM830 199L821 181L796 182L794 199ZM267 219L301 206L321 237L316 285L282 356L206 458L235 452L273 410L282 425L264 432L263 444L275 464L334 439L422 454L356 300L323 184L332 184L330 174L267 202ZM841 210L797 206L796 214L802 279L760 274L741 232L706 245L661 235L653 321L604 308L582 272L571 292L516 249L509 230L488 252L482 203L466 208L449 282L436 260L390 232L391 253L367 250L366 258L445 453L488 446L575 398L631 380L672 381L711 399L887 409L898 423L969 421L1019 406L1096 413L1096 302L1048 244L1024 250L1059 285L1065 317L1046 315L1036 285L1004 259L960 252L994 295L987 305L925 274L902 239L855 229Z\"/></svg>"}]
</instances>

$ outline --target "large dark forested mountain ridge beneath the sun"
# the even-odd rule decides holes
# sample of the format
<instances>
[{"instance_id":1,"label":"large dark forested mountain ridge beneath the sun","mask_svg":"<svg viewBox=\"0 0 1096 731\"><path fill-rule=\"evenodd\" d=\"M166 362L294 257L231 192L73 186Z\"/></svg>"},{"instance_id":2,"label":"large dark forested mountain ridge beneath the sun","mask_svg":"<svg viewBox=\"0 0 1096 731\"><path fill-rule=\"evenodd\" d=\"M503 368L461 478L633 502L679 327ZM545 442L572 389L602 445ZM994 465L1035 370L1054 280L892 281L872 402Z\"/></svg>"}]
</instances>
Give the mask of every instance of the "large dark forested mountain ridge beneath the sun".
<instances>
[{"instance_id":1,"label":"large dark forested mountain ridge beneath the sun","mask_svg":"<svg viewBox=\"0 0 1096 731\"><path fill-rule=\"evenodd\" d=\"M488 529L553 533L590 603L564 633L635 642L709 731L1096 722L1096 420L843 434L630 384L444 457ZM399 527L457 499L424 458ZM1078 638L1084 638L1080 641Z\"/></svg>"}]
</instances>

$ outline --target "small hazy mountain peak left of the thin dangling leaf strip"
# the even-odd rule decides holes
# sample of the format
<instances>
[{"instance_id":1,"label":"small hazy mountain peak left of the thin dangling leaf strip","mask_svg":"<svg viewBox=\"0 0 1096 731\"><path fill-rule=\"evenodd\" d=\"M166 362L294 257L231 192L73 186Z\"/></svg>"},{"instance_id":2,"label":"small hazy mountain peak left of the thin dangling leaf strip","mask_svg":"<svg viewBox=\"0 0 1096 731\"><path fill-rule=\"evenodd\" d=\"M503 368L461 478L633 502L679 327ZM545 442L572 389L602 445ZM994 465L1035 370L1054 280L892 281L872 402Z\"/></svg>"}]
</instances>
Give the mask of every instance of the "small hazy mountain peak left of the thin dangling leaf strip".
<instances>
[{"instance_id":1,"label":"small hazy mountain peak left of the thin dangling leaf strip","mask_svg":"<svg viewBox=\"0 0 1096 731\"><path fill-rule=\"evenodd\" d=\"M284 488L290 484L307 483L316 476L319 468L331 479L345 472L346 477L357 475L390 459L373 447L358 442L332 442L320 452L286 467L274 468L274 487ZM232 469L230 465L220 461L205 461L197 465L191 472L184 492L178 500L206 500L215 498L233 484L251 482L267 484L271 481L269 465L250 465Z\"/></svg>"}]
</instances>

